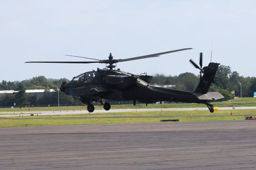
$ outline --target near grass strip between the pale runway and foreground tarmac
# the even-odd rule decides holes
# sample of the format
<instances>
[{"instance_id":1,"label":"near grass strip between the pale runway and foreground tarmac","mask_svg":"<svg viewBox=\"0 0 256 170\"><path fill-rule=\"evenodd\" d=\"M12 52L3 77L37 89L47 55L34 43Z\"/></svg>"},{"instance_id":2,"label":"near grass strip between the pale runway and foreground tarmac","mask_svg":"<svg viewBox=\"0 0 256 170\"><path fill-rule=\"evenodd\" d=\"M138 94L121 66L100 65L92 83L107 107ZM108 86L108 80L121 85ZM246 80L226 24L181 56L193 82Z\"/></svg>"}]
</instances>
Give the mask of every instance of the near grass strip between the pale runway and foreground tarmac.
<instances>
[{"instance_id":1,"label":"near grass strip between the pale runway and foreground tarmac","mask_svg":"<svg viewBox=\"0 0 256 170\"><path fill-rule=\"evenodd\" d=\"M252 110L234 110L233 116L230 110L222 110L209 113L209 111L151 111L151 112L122 112L103 113L102 119L98 114L76 114L76 115L52 115L19 117L0 119L0 127L22 127L22 126L53 126L53 125L87 125L87 124L113 124L113 123L156 123L163 119L179 119L180 121L220 121L220 120L243 120L245 115L256 115ZM190 117L190 115L192 117ZM135 116L135 117L134 117ZM161 117L162 116L162 117ZM78 119L77 119L77 118ZM93 117L88 119L87 117ZM38 119L45 118L45 119ZM165 122L173 123L173 122Z\"/></svg>"}]
</instances>

